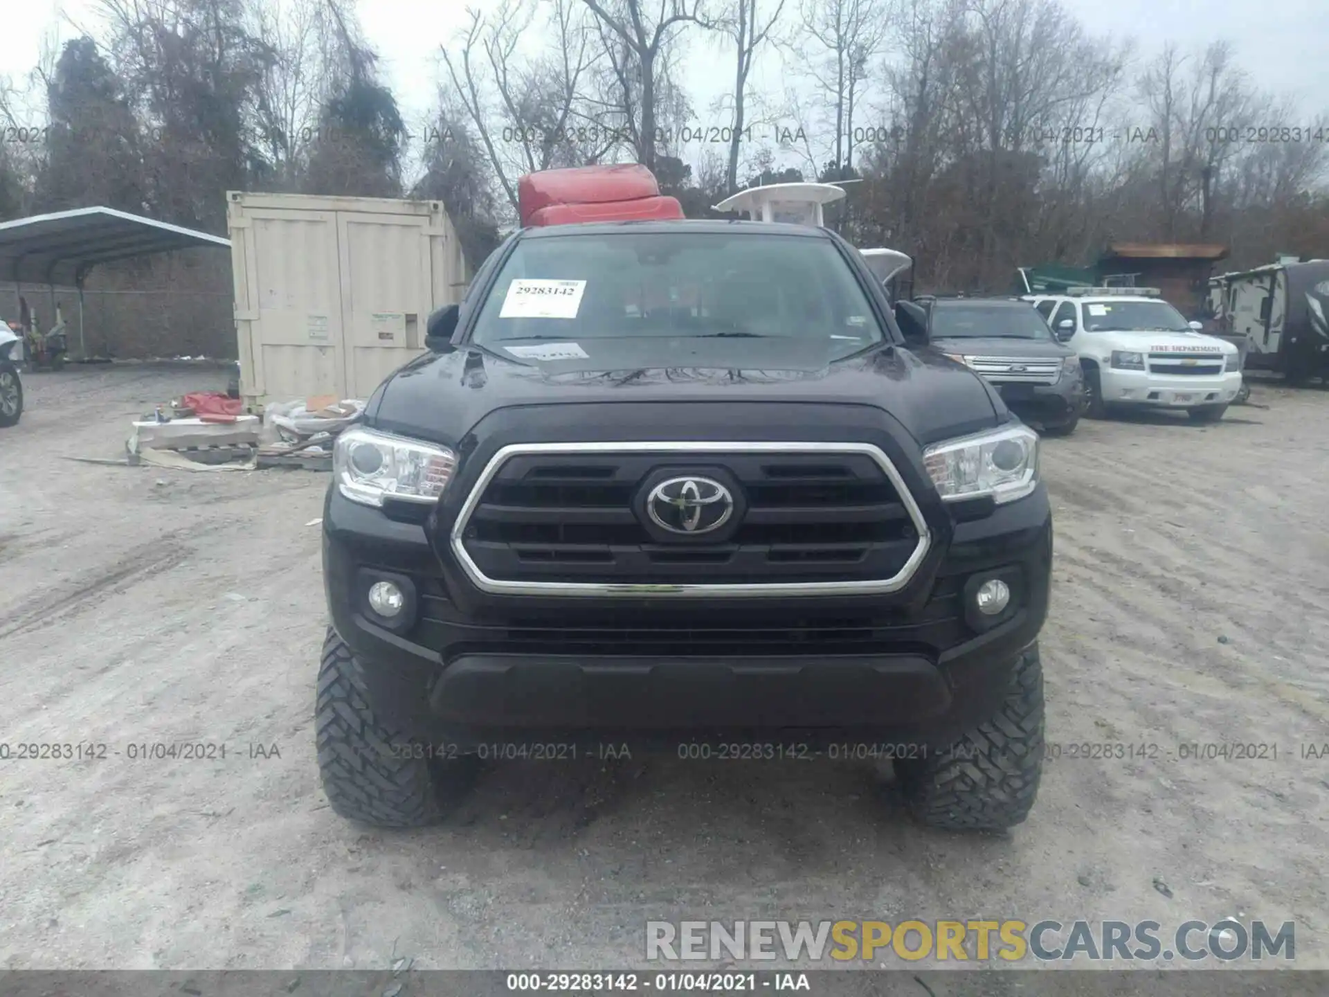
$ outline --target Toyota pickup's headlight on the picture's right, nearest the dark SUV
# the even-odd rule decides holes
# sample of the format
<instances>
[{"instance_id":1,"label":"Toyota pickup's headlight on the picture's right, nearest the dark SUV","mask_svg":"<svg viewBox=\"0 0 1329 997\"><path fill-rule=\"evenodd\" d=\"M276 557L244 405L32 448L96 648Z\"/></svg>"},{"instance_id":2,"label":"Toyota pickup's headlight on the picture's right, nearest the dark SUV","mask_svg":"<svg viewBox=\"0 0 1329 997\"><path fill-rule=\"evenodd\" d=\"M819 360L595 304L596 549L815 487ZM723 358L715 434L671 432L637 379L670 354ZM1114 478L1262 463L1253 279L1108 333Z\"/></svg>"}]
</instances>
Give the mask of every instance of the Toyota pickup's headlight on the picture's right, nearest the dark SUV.
<instances>
[{"instance_id":1,"label":"Toyota pickup's headlight on the picture's right, nearest the dark SUV","mask_svg":"<svg viewBox=\"0 0 1329 997\"><path fill-rule=\"evenodd\" d=\"M945 501L990 495L999 505L1038 487L1038 433L1023 423L928 447L922 463Z\"/></svg>"}]
</instances>

